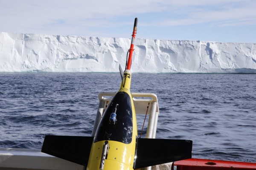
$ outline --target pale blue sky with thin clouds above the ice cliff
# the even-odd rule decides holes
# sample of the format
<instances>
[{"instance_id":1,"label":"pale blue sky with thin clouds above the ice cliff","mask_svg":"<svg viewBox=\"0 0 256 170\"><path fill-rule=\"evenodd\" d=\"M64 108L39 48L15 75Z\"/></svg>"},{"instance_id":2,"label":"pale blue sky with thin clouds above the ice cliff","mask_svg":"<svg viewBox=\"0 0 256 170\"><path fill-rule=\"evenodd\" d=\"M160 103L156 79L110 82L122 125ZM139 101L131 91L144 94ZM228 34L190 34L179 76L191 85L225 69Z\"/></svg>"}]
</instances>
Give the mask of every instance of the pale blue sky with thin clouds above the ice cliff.
<instances>
[{"instance_id":1,"label":"pale blue sky with thin clouds above the ice cliff","mask_svg":"<svg viewBox=\"0 0 256 170\"><path fill-rule=\"evenodd\" d=\"M0 0L0 32L256 43L256 0Z\"/></svg>"}]
</instances>

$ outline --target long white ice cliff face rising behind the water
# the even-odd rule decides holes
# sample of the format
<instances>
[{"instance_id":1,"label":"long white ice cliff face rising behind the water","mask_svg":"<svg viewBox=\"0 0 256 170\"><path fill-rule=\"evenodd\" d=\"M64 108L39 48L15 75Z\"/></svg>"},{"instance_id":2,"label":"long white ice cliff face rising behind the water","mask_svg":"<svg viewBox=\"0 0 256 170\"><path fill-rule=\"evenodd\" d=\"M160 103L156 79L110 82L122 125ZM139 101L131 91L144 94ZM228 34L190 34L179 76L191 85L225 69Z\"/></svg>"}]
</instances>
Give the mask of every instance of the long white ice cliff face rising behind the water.
<instances>
[{"instance_id":1,"label":"long white ice cliff face rising behind the water","mask_svg":"<svg viewBox=\"0 0 256 170\"><path fill-rule=\"evenodd\" d=\"M118 72L131 40L0 32L0 72ZM256 73L255 43L135 41L133 72Z\"/></svg>"}]
</instances>

